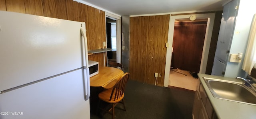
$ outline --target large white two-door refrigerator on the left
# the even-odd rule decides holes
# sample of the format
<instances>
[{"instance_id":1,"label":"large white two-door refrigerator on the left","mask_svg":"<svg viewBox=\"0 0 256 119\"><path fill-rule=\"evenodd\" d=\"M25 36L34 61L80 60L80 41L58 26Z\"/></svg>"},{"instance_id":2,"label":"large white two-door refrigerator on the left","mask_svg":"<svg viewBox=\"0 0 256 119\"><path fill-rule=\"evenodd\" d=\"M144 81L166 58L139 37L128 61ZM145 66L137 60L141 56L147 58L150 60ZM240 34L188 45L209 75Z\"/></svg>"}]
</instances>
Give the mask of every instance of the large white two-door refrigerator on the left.
<instances>
[{"instance_id":1,"label":"large white two-door refrigerator on the left","mask_svg":"<svg viewBox=\"0 0 256 119\"><path fill-rule=\"evenodd\" d=\"M90 119L85 23L0 11L0 119Z\"/></svg>"}]
</instances>

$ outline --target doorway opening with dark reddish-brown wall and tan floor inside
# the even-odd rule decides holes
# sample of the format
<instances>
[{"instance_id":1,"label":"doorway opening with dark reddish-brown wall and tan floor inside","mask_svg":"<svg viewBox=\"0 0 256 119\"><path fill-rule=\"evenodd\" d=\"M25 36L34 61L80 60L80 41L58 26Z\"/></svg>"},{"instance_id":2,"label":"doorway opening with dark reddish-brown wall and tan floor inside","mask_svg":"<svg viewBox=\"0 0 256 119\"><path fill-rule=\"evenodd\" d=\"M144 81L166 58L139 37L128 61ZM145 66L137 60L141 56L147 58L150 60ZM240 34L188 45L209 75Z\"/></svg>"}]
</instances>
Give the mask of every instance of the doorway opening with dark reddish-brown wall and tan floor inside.
<instances>
[{"instance_id":1,"label":"doorway opening with dark reddish-brown wall and tan floor inside","mask_svg":"<svg viewBox=\"0 0 256 119\"><path fill-rule=\"evenodd\" d=\"M196 90L208 19L176 19L169 86Z\"/></svg>"}]
</instances>

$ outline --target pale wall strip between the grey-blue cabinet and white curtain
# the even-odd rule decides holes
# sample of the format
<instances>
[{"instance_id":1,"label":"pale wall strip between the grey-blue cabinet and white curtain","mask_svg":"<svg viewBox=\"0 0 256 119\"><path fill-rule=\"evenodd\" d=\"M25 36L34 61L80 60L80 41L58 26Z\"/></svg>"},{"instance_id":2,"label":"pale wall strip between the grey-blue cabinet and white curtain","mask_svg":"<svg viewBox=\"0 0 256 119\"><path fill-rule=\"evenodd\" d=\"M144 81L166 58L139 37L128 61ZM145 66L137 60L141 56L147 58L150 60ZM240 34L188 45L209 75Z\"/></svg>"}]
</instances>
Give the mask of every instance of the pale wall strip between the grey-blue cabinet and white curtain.
<instances>
[{"instance_id":1,"label":"pale wall strip between the grey-blue cabinet and white curtain","mask_svg":"<svg viewBox=\"0 0 256 119\"><path fill-rule=\"evenodd\" d=\"M230 54L243 53L245 55L252 18L256 13L255 4L254 0L240 0ZM225 77L245 77L246 73L242 70L243 60L244 58L240 63L228 62Z\"/></svg>"}]
</instances>

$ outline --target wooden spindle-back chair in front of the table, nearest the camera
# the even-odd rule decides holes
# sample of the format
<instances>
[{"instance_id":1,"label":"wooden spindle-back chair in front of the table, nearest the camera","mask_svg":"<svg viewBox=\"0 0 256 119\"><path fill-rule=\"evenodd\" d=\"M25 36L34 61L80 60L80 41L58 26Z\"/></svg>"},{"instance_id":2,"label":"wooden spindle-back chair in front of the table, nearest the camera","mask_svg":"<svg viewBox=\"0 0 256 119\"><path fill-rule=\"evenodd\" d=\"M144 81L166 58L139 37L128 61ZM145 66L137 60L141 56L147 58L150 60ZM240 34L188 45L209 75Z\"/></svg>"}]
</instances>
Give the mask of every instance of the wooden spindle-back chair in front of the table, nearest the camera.
<instances>
[{"instance_id":1,"label":"wooden spindle-back chair in front of the table, nearest the camera","mask_svg":"<svg viewBox=\"0 0 256 119\"><path fill-rule=\"evenodd\" d=\"M100 100L105 101L107 103L111 103L112 107L106 111L105 109L102 109L103 111L106 111L107 113L112 115L112 118L115 118L115 111L114 108L118 104L118 102L122 103L124 106L124 88L126 86L126 82L128 81L128 78L130 76L130 73L124 73L123 76L120 78L120 80L115 84L113 88L106 89L98 95ZM112 110L112 113L110 112ZM124 106L124 111L126 111Z\"/></svg>"}]
</instances>

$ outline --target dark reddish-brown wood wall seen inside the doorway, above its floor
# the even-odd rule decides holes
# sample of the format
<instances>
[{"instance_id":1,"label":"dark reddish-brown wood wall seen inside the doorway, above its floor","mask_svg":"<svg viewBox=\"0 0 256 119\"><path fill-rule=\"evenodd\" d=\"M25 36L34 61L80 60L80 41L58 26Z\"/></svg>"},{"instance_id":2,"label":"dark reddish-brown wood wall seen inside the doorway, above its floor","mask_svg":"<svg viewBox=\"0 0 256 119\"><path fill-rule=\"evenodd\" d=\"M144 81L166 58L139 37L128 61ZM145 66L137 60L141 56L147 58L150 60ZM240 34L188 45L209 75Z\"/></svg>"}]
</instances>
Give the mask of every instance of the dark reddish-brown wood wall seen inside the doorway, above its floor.
<instances>
[{"instance_id":1,"label":"dark reddish-brown wood wall seen inside the doorway, above its floor","mask_svg":"<svg viewBox=\"0 0 256 119\"><path fill-rule=\"evenodd\" d=\"M207 19L175 21L171 67L199 73Z\"/></svg>"}]
</instances>

